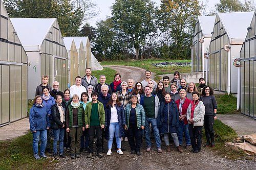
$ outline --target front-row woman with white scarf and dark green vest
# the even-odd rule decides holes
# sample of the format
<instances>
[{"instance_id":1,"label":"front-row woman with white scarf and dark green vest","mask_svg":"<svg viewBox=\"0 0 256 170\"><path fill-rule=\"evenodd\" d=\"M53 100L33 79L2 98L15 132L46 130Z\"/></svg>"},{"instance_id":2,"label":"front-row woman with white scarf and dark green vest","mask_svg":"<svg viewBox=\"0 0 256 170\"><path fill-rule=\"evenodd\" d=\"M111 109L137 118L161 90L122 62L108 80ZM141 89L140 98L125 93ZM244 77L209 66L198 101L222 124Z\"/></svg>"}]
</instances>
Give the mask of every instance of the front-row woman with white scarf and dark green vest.
<instances>
[{"instance_id":1,"label":"front-row woman with white scarf and dark green vest","mask_svg":"<svg viewBox=\"0 0 256 170\"><path fill-rule=\"evenodd\" d=\"M86 129L86 125L84 124L83 105L79 103L79 96L77 94L73 95L72 102L68 106L66 125L66 130L69 132L71 137L71 158L79 158L80 139L82 136L82 131Z\"/></svg>"}]
</instances>

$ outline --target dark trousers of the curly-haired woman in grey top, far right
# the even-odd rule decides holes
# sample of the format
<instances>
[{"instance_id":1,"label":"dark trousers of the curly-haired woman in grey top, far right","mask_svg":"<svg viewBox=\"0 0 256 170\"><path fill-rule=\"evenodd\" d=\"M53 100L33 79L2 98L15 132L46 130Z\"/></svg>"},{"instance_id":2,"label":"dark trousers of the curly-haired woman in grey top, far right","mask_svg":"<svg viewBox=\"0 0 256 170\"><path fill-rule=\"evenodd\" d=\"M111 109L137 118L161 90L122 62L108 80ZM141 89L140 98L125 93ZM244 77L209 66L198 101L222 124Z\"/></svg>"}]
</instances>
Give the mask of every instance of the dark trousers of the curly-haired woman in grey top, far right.
<instances>
[{"instance_id":1,"label":"dark trousers of the curly-haired woman in grey top, far right","mask_svg":"<svg viewBox=\"0 0 256 170\"><path fill-rule=\"evenodd\" d=\"M211 142L214 142L214 116L213 115L204 115L204 129L205 136L210 137Z\"/></svg>"}]
</instances>

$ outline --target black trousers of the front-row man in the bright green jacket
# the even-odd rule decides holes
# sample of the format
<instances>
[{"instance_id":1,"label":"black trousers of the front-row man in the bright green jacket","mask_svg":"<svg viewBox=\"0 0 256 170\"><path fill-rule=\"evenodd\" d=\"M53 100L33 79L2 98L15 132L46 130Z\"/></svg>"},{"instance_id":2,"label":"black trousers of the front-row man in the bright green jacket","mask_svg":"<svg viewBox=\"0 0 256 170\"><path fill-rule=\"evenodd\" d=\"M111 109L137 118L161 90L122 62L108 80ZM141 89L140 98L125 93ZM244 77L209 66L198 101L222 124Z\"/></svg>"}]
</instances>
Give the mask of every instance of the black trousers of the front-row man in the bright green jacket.
<instances>
[{"instance_id":1,"label":"black trousers of the front-row man in the bright green jacket","mask_svg":"<svg viewBox=\"0 0 256 170\"><path fill-rule=\"evenodd\" d=\"M96 143L96 151L97 154L99 152L102 152L102 145L101 145L101 128L100 126L90 126L89 128L89 153L93 153L93 137L96 131L96 138L97 138L97 143Z\"/></svg>"}]
</instances>

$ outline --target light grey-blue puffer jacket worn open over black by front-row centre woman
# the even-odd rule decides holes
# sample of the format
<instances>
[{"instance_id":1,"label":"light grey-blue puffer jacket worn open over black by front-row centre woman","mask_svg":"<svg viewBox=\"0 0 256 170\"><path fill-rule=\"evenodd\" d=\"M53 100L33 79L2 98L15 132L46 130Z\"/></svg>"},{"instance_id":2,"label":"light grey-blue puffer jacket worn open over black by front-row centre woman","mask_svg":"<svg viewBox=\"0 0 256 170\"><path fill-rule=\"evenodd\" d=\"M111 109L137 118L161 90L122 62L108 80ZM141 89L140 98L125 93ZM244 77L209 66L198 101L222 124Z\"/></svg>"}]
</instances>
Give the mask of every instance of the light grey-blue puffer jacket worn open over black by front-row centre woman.
<instances>
[{"instance_id":1,"label":"light grey-blue puffer jacket worn open over black by front-row centre woman","mask_svg":"<svg viewBox=\"0 0 256 170\"><path fill-rule=\"evenodd\" d=\"M129 128L131 109L132 109L131 103L125 107L125 125L127 126L127 129ZM137 104L135 111L136 111L136 118L137 118L137 126L138 126L138 129L140 129L141 126L145 126L145 121L146 121L145 111L143 106L140 104Z\"/></svg>"}]
</instances>

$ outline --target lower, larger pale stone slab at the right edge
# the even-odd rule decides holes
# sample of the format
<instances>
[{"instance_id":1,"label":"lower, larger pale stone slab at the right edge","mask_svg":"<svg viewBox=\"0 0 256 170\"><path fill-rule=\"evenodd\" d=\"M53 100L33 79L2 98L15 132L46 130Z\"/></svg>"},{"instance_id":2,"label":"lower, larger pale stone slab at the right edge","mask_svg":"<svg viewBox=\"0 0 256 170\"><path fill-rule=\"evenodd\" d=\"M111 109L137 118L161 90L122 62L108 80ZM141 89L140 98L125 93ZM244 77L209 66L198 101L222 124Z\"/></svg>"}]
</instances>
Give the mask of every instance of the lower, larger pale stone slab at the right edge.
<instances>
[{"instance_id":1,"label":"lower, larger pale stone slab at the right edge","mask_svg":"<svg viewBox=\"0 0 256 170\"><path fill-rule=\"evenodd\" d=\"M247 155L256 155L256 146L248 142L243 143L225 143L225 147L228 147L234 151L244 151Z\"/></svg>"}]
</instances>

